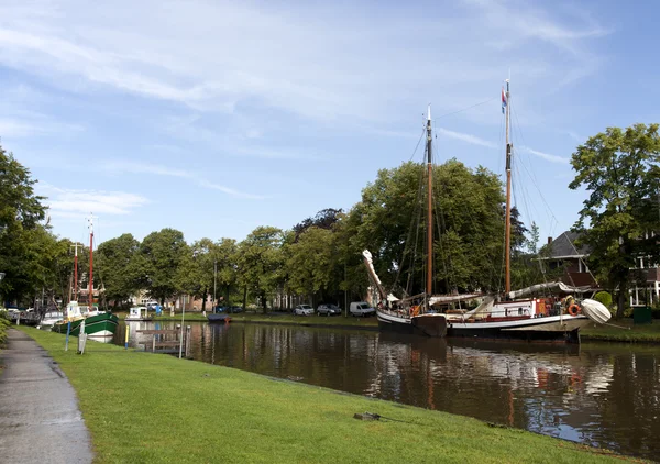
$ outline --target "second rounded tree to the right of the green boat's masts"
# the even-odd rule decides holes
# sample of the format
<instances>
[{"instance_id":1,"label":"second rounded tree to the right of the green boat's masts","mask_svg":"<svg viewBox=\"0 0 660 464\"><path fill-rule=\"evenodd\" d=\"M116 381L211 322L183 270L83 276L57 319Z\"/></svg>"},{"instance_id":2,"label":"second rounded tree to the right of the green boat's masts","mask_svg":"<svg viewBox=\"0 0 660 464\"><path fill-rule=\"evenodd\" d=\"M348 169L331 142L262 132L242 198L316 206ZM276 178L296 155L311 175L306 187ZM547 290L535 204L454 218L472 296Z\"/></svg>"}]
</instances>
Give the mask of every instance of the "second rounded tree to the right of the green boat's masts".
<instances>
[{"instance_id":1,"label":"second rounded tree to the right of the green boat's masts","mask_svg":"<svg viewBox=\"0 0 660 464\"><path fill-rule=\"evenodd\" d=\"M144 237L140 245L143 272L141 284L152 298L165 303L180 288L179 266L189 255L184 234L174 229L163 229Z\"/></svg>"}]
</instances>

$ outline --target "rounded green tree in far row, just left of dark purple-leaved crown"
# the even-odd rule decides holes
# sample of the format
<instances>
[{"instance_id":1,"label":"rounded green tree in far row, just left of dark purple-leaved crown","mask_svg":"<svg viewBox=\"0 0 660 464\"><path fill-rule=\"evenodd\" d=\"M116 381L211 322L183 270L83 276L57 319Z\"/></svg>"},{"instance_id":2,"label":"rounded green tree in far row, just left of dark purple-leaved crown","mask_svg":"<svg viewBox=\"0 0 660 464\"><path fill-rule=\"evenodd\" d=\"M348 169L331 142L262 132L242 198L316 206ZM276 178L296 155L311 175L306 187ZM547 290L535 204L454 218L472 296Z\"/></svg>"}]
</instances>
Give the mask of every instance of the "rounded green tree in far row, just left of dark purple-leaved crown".
<instances>
[{"instance_id":1,"label":"rounded green tree in far row, just left of dark purple-leaved crown","mask_svg":"<svg viewBox=\"0 0 660 464\"><path fill-rule=\"evenodd\" d=\"M277 288L282 272L282 230L273 227L258 227L239 245L239 279L244 289L243 305L248 291L261 300L264 313L267 312L267 297Z\"/></svg>"}]
</instances>

